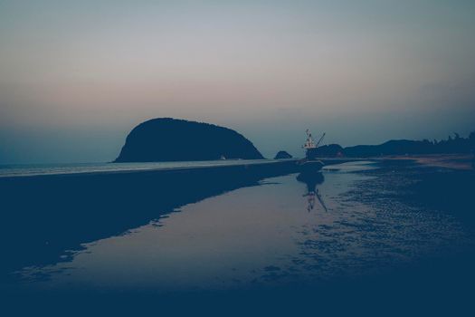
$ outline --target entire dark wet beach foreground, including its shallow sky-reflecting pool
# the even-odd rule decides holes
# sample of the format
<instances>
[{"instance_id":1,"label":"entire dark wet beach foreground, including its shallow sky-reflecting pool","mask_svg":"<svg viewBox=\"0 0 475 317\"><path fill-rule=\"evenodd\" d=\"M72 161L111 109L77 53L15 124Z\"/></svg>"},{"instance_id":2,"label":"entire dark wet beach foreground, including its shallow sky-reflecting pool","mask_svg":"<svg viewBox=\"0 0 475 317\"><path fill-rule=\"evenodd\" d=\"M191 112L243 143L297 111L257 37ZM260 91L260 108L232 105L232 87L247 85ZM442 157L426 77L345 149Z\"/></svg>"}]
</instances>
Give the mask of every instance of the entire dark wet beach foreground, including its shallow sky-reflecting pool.
<instances>
[{"instance_id":1,"label":"entire dark wet beach foreground, including its shallow sky-reflecting pool","mask_svg":"<svg viewBox=\"0 0 475 317\"><path fill-rule=\"evenodd\" d=\"M310 187L297 171L293 162L282 162L1 178L1 291L18 308L58 312L76 305L80 315L91 307L102 313L156 307L226 315L317 308L457 315L470 308L473 171L380 159L328 167ZM325 208L316 201L306 209L303 194L312 186ZM163 239L170 245L161 246ZM202 240L216 250L202 249ZM209 253L207 271L200 271L203 253ZM262 259L263 269L252 269ZM228 263L237 271L226 271ZM249 272L239 273L248 266ZM180 267L188 276L174 275ZM134 279L142 275L146 284ZM225 287L212 286L214 277ZM149 282L154 279L181 288L164 293L163 285Z\"/></svg>"}]
</instances>

